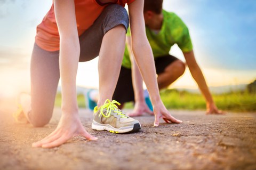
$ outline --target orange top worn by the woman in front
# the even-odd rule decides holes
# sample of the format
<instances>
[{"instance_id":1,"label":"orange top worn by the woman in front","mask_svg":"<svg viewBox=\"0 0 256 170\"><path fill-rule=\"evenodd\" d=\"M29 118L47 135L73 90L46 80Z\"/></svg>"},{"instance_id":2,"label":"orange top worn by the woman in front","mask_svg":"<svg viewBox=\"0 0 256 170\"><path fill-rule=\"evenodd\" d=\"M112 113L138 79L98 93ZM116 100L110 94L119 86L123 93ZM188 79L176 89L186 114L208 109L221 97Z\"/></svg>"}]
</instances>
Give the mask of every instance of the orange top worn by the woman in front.
<instances>
[{"instance_id":1,"label":"orange top worn by the woman in front","mask_svg":"<svg viewBox=\"0 0 256 170\"><path fill-rule=\"evenodd\" d=\"M116 4L128 5L135 0L118 0ZM86 29L93 25L107 5L101 4L99 0L75 0L76 23L78 35L84 33ZM60 48L60 36L55 20L54 6L45 15L43 21L36 29L36 44L46 51L58 51Z\"/></svg>"}]
</instances>

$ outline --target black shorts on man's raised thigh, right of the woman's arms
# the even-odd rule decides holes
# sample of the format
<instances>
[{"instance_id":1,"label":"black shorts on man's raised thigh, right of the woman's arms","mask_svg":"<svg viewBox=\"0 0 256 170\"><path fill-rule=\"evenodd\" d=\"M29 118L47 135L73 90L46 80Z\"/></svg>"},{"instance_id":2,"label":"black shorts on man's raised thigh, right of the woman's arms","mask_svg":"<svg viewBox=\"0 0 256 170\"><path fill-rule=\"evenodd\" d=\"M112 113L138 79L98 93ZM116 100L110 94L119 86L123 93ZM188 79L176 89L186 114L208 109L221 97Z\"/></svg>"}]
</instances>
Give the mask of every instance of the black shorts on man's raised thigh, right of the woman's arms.
<instances>
[{"instance_id":1,"label":"black shorts on man's raised thigh, right of the woman's arms","mask_svg":"<svg viewBox=\"0 0 256 170\"><path fill-rule=\"evenodd\" d=\"M179 59L175 58L175 56L173 55L164 55L157 57L155 59L156 74L161 74L162 72L164 72L167 66L177 60Z\"/></svg>"}]
</instances>

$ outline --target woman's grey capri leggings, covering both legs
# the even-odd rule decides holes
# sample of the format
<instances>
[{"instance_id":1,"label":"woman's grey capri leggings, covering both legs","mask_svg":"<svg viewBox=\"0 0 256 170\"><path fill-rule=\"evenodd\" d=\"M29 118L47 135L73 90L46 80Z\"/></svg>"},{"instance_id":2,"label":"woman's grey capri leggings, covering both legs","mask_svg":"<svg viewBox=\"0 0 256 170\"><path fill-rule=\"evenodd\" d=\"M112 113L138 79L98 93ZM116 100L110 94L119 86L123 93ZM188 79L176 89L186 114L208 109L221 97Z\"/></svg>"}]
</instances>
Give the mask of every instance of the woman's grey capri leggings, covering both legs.
<instances>
[{"instance_id":1,"label":"woman's grey capri leggings, covering both legs","mask_svg":"<svg viewBox=\"0 0 256 170\"><path fill-rule=\"evenodd\" d=\"M121 5L108 5L93 25L79 36L79 61L89 61L99 55L103 36L112 28L123 25L127 31L129 16ZM49 52L37 44L31 56L30 123L43 126L52 117L55 94L60 79L59 51Z\"/></svg>"}]
</instances>

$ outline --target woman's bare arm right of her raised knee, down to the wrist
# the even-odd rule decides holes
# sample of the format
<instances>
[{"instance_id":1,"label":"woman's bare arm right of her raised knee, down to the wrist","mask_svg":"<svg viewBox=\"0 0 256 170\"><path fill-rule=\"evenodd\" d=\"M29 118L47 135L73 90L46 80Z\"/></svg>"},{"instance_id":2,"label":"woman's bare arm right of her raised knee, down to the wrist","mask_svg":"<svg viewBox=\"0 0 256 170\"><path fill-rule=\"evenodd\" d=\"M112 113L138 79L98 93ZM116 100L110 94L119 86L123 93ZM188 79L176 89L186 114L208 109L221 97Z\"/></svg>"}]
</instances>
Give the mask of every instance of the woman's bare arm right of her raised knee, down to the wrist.
<instances>
[{"instance_id":1,"label":"woman's bare arm right of her raised knee, down to the wrist","mask_svg":"<svg viewBox=\"0 0 256 170\"><path fill-rule=\"evenodd\" d=\"M142 78L147 86L150 99L153 105L156 105L160 103L161 98L156 80L153 52L146 36L143 2L143 0L137 0L129 5L132 51Z\"/></svg>"}]
</instances>

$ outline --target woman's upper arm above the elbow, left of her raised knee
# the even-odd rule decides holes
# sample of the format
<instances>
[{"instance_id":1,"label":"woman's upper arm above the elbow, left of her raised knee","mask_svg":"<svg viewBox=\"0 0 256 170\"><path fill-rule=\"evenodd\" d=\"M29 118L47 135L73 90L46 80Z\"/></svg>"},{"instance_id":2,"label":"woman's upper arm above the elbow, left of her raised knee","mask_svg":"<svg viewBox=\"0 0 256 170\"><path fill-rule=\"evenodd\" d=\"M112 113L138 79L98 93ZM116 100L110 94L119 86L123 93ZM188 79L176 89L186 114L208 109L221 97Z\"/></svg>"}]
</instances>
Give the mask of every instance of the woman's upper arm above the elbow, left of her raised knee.
<instances>
[{"instance_id":1,"label":"woman's upper arm above the elbow, left of her raised knee","mask_svg":"<svg viewBox=\"0 0 256 170\"><path fill-rule=\"evenodd\" d=\"M54 0L53 3L60 38L73 37L78 40L74 0Z\"/></svg>"}]
</instances>

